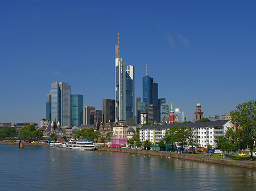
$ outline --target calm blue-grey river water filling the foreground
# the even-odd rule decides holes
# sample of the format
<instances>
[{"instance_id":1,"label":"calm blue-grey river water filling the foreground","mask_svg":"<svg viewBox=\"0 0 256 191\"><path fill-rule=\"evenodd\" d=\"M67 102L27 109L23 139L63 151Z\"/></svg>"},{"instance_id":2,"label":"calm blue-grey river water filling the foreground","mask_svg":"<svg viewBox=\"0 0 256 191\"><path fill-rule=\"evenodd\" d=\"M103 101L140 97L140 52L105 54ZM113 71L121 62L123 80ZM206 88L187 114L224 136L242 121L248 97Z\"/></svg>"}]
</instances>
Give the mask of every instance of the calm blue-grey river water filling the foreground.
<instances>
[{"instance_id":1,"label":"calm blue-grey river water filling the foreground","mask_svg":"<svg viewBox=\"0 0 256 191\"><path fill-rule=\"evenodd\" d=\"M0 145L0 190L256 190L254 169L107 151Z\"/></svg>"}]
</instances>

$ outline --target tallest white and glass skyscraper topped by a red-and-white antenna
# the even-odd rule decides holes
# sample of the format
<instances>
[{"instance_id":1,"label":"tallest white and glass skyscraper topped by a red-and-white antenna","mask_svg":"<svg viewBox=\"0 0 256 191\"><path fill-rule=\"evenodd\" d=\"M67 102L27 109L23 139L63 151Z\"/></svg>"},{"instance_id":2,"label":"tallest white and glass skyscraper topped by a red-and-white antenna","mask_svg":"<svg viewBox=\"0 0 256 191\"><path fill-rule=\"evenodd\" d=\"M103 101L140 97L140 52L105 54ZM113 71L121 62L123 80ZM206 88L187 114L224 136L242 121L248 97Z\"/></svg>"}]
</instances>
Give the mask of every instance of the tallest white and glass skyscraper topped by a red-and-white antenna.
<instances>
[{"instance_id":1,"label":"tallest white and glass skyscraper topped by a red-and-white antenna","mask_svg":"<svg viewBox=\"0 0 256 191\"><path fill-rule=\"evenodd\" d=\"M125 67L119 55L118 45L115 46L115 121L134 118L134 66Z\"/></svg>"}]
</instances>

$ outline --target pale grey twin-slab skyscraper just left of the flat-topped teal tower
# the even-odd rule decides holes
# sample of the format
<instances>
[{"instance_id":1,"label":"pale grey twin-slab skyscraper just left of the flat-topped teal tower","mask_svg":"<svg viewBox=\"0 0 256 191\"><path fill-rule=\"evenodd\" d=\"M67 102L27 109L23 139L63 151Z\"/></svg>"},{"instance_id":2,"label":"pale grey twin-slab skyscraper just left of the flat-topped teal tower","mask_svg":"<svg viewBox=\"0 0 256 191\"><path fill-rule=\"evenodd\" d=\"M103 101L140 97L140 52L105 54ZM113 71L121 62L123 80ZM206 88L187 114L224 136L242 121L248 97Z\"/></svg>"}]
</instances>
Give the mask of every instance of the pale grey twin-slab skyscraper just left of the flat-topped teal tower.
<instances>
[{"instance_id":1,"label":"pale grey twin-slab skyscraper just left of the flat-topped teal tower","mask_svg":"<svg viewBox=\"0 0 256 191\"><path fill-rule=\"evenodd\" d=\"M52 83L51 112L52 121L59 121L61 126L70 125L70 85L65 82Z\"/></svg>"}]
</instances>

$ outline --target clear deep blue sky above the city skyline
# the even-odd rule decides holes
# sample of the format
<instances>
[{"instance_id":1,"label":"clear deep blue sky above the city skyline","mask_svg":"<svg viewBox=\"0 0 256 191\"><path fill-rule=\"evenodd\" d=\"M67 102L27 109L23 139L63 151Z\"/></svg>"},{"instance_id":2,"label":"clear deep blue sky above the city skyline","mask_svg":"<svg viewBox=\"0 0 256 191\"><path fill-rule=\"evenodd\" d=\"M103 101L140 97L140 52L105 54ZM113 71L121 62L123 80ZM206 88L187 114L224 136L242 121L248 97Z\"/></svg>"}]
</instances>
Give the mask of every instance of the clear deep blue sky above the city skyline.
<instances>
[{"instance_id":1,"label":"clear deep blue sky above the city skyline","mask_svg":"<svg viewBox=\"0 0 256 191\"><path fill-rule=\"evenodd\" d=\"M46 117L52 82L67 82L84 105L114 99L114 46L146 74L159 98L193 119L228 114L255 99L255 1L1 1L0 121Z\"/></svg>"}]
</instances>

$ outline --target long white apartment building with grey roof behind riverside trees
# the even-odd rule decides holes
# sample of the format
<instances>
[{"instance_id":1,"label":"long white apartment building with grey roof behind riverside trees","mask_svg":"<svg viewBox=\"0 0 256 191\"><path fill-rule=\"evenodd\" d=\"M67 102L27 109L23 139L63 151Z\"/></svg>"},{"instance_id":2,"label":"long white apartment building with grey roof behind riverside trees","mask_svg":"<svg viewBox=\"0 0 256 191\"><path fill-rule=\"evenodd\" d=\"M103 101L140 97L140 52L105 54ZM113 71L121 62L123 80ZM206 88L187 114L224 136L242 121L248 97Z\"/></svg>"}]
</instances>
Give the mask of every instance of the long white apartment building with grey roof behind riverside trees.
<instances>
[{"instance_id":1,"label":"long white apartment building with grey roof behind riverside trees","mask_svg":"<svg viewBox=\"0 0 256 191\"><path fill-rule=\"evenodd\" d=\"M150 141L151 143L159 143L164 138L166 130L177 126L181 128L187 126L195 130L198 143L201 147L215 146L215 140L223 136L226 130L230 128L229 120L209 121L209 122L191 122L185 124L167 124L167 125L144 125L139 130L139 139L143 141Z\"/></svg>"}]
</instances>

